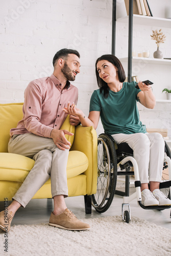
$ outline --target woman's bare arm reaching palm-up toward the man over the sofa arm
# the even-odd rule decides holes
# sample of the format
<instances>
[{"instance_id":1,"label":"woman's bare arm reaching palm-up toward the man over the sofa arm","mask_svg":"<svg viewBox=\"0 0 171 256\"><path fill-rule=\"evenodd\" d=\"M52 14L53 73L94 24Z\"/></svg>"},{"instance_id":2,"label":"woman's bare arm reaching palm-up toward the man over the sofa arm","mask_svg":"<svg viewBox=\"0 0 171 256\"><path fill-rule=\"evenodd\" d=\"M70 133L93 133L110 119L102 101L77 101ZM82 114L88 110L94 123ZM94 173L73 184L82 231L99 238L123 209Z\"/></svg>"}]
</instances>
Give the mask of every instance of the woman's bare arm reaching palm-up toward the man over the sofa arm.
<instances>
[{"instance_id":1,"label":"woman's bare arm reaching palm-up toward the man over the sofa arm","mask_svg":"<svg viewBox=\"0 0 171 256\"><path fill-rule=\"evenodd\" d=\"M78 116L82 126L93 126L94 129L97 128L100 118L99 111L91 111L89 117L87 117L82 110L77 109L76 105L74 103L71 105L70 102L68 102L68 106L64 108L63 111L65 111L66 114Z\"/></svg>"}]
</instances>

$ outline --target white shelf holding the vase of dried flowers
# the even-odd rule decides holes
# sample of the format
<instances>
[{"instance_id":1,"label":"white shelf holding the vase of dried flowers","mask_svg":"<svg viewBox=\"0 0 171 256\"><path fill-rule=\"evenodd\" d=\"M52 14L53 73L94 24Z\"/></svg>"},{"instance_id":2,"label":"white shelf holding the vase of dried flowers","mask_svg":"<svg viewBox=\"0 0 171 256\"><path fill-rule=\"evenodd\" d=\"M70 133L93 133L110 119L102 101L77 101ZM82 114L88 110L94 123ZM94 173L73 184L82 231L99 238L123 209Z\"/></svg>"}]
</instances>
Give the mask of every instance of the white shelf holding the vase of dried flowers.
<instances>
[{"instance_id":1,"label":"white shelf holding the vase of dried flowers","mask_svg":"<svg viewBox=\"0 0 171 256\"><path fill-rule=\"evenodd\" d=\"M120 61L127 61L128 58L119 58ZM143 61L144 63L152 63L159 65L171 65L170 59L155 59L155 58L143 58L143 57L133 57L133 62Z\"/></svg>"}]
</instances>

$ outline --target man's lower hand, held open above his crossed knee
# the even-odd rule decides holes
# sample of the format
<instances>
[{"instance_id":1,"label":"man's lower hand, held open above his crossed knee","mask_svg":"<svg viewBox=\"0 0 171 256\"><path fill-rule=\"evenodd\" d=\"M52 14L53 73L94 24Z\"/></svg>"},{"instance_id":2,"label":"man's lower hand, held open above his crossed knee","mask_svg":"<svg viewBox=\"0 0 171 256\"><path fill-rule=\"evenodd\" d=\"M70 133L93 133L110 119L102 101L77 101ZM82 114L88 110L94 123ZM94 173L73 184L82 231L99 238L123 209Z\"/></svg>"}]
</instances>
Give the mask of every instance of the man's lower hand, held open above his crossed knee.
<instances>
[{"instance_id":1,"label":"man's lower hand, held open above his crossed knee","mask_svg":"<svg viewBox=\"0 0 171 256\"><path fill-rule=\"evenodd\" d=\"M60 150L69 150L71 143L66 139L65 134L68 134L70 136L74 135L73 133L68 132L67 130L57 130L53 129L51 132L51 138L53 139L55 145Z\"/></svg>"}]
</instances>

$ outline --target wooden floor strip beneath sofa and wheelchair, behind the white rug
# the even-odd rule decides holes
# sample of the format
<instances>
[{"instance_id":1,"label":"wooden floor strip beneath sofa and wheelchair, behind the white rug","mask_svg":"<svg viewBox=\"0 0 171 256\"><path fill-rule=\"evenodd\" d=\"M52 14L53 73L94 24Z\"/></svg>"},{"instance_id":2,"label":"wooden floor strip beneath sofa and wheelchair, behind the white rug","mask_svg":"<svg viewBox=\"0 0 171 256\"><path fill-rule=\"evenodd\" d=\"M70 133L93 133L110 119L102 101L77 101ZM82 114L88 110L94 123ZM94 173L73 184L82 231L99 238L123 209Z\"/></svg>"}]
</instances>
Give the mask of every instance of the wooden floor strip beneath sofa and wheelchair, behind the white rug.
<instances>
[{"instance_id":1,"label":"wooden floor strip beneath sofa and wheelchair, behind the white rug","mask_svg":"<svg viewBox=\"0 0 171 256\"><path fill-rule=\"evenodd\" d=\"M131 193L133 193L132 188ZM89 218L102 218L105 216L121 216L121 206L123 198L115 195L114 200L110 208L103 214L99 214L94 208L92 208L92 214L86 215L84 210L84 197L69 197L65 199L67 207L76 215L78 219ZM164 228L171 229L170 209L159 210L145 210L137 205L136 199L130 203L131 216L139 217L141 219L153 222ZM4 209L4 202L0 202L0 211ZM13 225L24 224L37 224L48 223L49 217L53 211L52 199L32 199L26 208L20 207L16 212L12 221Z\"/></svg>"}]
</instances>

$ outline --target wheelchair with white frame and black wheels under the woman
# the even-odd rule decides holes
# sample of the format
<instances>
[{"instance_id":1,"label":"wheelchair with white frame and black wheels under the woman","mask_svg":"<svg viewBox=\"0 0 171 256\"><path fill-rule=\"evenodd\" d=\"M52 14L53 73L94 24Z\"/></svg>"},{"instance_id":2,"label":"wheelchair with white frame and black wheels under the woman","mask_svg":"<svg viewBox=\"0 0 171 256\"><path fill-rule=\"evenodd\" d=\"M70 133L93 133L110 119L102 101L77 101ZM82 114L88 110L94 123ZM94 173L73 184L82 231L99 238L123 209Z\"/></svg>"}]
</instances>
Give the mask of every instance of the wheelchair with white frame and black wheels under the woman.
<instances>
[{"instance_id":1,"label":"wheelchair with white frame and black wheels under the woman","mask_svg":"<svg viewBox=\"0 0 171 256\"><path fill-rule=\"evenodd\" d=\"M98 137L98 171L97 192L92 195L92 205L97 212L102 213L109 209L114 195L123 196L122 220L131 221L130 202L137 198L138 204L143 209L163 210L171 205L144 206L141 200L141 182L139 180L138 165L133 157L133 150L127 143L116 144L113 137L108 134L100 134ZM165 173L165 170L168 170ZM116 190L117 176L125 176L125 191ZM129 196L130 176L135 177L136 192ZM160 189L170 199L171 189L171 152L165 142L165 157L163 163L163 176ZM127 210L125 210L125 207ZM170 212L171 218L171 212Z\"/></svg>"}]
</instances>

